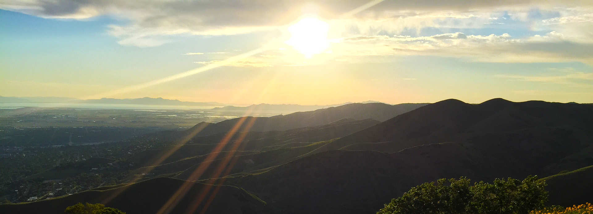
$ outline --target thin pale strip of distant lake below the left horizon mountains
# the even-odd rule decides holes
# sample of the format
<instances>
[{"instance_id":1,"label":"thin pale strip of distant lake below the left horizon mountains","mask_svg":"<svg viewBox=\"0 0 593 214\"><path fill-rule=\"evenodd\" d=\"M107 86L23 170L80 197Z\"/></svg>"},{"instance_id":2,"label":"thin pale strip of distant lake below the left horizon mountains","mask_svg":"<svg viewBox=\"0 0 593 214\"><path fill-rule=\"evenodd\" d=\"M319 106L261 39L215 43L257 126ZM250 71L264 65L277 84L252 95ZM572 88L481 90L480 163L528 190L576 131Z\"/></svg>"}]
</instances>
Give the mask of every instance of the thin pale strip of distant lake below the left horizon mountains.
<instances>
[{"instance_id":1,"label":"thin pale strip of distant lake below the left horizon mountains","mask_svg":"<svg viewBox=\"0 0 593 214\"><path fill-rule=\"evenodd\" d=\"M222 106L170 106L141 104L101 104L101 103L0 103L0 109L16 107L62 107L62 108L105 108L105 109L211 109Z\"/></svg>"}]
</instances>

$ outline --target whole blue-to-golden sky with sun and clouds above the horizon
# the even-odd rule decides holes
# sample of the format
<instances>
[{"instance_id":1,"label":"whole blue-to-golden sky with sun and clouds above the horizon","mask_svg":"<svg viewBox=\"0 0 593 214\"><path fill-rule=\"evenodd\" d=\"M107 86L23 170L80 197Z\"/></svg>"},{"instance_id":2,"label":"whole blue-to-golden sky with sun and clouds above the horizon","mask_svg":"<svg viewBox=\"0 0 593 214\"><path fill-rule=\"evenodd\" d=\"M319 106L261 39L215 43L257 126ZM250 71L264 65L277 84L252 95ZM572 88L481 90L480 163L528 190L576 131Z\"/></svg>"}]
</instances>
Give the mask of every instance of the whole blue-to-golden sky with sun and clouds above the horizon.
<instances>
[{"instance_id":1,"label":"whole blue-to-golden sky with sun and clouds above the horizon","mask_svg":"<svg viewBox=\"0 0 593 214\"><path fill-rule=\"evenodd\" d=\"M0 0L0 95L593 103L593 1Z\"/></svg>"}]
</instances>

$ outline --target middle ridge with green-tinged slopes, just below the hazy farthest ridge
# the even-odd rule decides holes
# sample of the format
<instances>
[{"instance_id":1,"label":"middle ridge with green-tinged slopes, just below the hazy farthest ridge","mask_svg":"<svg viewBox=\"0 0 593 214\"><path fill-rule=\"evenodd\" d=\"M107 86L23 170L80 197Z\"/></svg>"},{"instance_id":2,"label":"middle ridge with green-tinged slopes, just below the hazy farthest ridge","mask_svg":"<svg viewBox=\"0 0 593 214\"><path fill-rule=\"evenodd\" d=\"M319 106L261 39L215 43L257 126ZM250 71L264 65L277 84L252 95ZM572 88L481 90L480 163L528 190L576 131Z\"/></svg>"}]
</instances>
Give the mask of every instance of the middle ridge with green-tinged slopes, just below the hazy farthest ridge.
<instances>
[{"instance_id":1,"label":"middle ridge with green-tinged slopes, just below the hazy farthest ridge","mask_svg":"<svg viewBox=\"0 0 593 214\"><path fill-rule=\"evenodd\" d=\"M209 154L217 146L221 146L221 144L222 147L219 148L219 152L240 150L244 152L233 153L235 155L251 154L257 151L304 146L313 142L340 138L377 123L379 123L377 120L372 119L342 119L321 126L300 127L290 130L238 132L234 133L234 135L220 133L209 136L194 136L189 142L184 143L184 145L167 146L158 150L147 150L133 156L130 160L141 166L150 166L154 164L154 159L165 156L165 159L158 163L165 164L184 158ZM171 136L165 136L164 138L167 137ZM237 148L235 148L236 143L240 143L240 146ZM170 151L173 152L168 154Z\"/></svg>"}]
</instances>

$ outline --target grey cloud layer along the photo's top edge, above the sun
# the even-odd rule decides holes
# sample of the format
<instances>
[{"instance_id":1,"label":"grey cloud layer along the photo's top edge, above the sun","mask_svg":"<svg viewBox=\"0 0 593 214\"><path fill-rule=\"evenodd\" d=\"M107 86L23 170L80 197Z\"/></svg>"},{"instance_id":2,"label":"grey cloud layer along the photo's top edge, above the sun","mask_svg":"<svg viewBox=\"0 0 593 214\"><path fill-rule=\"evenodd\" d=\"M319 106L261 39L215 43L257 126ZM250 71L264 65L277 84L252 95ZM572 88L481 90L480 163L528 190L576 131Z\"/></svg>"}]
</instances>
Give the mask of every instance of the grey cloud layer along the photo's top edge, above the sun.
<instances>
[{"instance_id":1,"label":"grey cloud layer along the photo's top edge, above the sun","mask_svg":"<svg viewBox=\"0 0 593 214\"><path fill-rule=\"evenodd\" d=\"M540 9L585 8L576 13L564 12L558 20L549 20L541 25L585 19L582 17L591 1L466 1L466 0L419 0L384 1L353 15L342 17L369 0L311 1L292 0L229 0L229 1L109 1L109 0L5 0L0 9L23 12L43 18L87 20L110 15L129 20L128 24L110 25L108 33L119 38L122 45L152 47L171 41L170 36L231 35L257 31L278 30L299 18L303 8L316 5L321 18L332 23L334 37L364 35L375 36L387 32L400 34L406 29L436 28L482 28L498 25L502 14L496 11L515 11L512 17L529 21L534 7ZM494 12L493 12L494 11ZM576 10L572 10L576 11ZM590 13L590 10L589 10ZM573 16L573 17L571 17ZM564 19L562 19L564 18ZM504 23L502 21L497 23ZM506 23L505 23L506 25Z\"/></svg>"}]
</instances>

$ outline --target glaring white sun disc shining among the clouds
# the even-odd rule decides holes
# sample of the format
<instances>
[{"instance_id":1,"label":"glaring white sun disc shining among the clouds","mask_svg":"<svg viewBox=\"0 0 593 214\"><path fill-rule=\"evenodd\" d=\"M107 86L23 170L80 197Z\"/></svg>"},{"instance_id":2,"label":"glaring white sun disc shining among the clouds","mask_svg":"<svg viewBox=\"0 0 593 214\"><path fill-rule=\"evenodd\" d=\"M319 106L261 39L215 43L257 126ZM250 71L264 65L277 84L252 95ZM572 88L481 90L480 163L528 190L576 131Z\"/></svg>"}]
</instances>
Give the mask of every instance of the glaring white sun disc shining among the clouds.
<instances>
[{"instance_id":1,"label":"glaring white sun disc shining among the clouds","mask_svg":"<svg viewBox=\"0 0 593 214\"><path fill-rule=\"evenodd\" d=\"M327 31L329 24L314 17L306 17L288 27L291 38L286 44L292 46L306 58L321 53L329 47Z\"/></svg>"}]
</instances>

